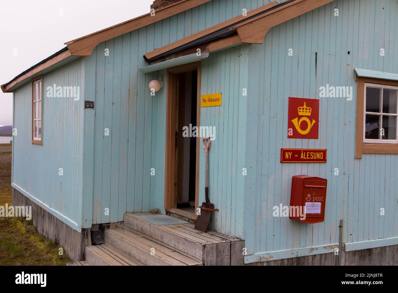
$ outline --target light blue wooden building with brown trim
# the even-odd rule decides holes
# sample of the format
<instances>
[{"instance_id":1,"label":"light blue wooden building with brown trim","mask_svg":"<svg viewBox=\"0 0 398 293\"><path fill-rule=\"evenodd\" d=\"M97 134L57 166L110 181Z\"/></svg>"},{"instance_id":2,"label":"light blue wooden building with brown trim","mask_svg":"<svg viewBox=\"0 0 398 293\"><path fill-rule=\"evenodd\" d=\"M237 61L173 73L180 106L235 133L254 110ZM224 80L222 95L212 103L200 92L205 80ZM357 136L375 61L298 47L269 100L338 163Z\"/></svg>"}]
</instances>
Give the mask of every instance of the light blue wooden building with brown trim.
<instances>
[{"instance_id":1,"label":"light blue wooden building with brown trim","mask_svg":"<svg viewBox=\"0 0 398 293\"><path fill-rule=\"evenodd\" d=\"M208 126L219 209L209 229L244 240L245 264L398 264L397 2L182 0L155 9L70 41L2 85L14 94L18 130L14 204L37 205L41 232L51 234L40 220L48 218L51 231L73 235L55 232L76 259L90 229L117 226L126 213L159 208L195 220L204 151L182 127ZM164 87L151 90L152 80ZM351 97L322 97L322 87ZM201 105L217 93L220 106ZM319 100L318 139L289 138L289 97ZM326 149L327 160L281 163L281 148ZM295 175L328 180L323 222L273 215L289 206Z\"/></svg>"}]
</instances>

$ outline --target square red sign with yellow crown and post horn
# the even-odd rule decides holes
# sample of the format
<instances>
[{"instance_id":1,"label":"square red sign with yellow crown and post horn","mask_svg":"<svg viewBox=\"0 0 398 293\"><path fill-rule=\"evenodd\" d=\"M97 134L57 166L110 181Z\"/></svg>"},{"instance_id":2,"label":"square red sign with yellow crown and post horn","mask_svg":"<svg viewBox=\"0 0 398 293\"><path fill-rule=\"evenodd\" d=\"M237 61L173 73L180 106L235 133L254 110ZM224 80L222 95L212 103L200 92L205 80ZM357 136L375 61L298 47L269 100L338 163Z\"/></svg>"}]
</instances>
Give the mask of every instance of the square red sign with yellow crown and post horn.
<instances>
[{"instance_id":1,"label":"square red sign with yellow crown and post horn","mask_svg":"<svg viewBox=\"0 0 398 293\"><path fill-rule=\"evenodd\" d=\"M318 138L319 100L289 97L287 138Z\"/></svg>"}]
</instances>

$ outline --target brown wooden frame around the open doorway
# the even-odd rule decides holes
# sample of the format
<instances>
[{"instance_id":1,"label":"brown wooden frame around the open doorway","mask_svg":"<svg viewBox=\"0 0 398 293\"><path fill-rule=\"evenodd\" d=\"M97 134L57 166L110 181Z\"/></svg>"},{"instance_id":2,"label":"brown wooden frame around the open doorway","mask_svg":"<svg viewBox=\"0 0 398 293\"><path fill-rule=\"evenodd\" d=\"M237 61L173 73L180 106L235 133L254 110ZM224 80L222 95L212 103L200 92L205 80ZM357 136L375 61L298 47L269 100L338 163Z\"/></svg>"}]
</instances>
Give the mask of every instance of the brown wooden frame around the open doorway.
<instances>
[{"instance_id":1,"label":"brown wooden frame around the open doorway","mask_svg":"<svg viewBox=\"0 0 398 293\"><path fill-rule=\"evenodd\" d=\"M199 126L200 118L200 77L201 66L199 62L188 63L167 69L166 81L166 162L164 174L164 208L170 210L174 206L174 179L175 179L175 117L176 117L176 75L188 71L197 70L197 102L196 102L196 125ZM198 207L199 196L199 136L196 137L196 174L195 174L195 211ZM197 218L196 212L195 220Z\"/></svg>"}]
</instances>

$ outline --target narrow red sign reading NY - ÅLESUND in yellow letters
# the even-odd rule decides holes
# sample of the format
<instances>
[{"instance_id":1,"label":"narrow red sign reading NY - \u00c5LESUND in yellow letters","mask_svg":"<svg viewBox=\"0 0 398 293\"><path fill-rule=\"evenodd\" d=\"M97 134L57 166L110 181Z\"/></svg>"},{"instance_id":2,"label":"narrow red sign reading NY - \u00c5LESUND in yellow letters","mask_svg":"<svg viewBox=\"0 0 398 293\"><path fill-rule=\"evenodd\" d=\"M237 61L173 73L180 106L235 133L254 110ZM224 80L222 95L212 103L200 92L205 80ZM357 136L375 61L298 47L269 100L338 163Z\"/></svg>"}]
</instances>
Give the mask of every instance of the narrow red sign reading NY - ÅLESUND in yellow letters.
<instances>
[{"instance_id":1,"label":"narrow red sign reading NY - \u00c5LESUND in yellow letters","mask_svg":"<svg viewBox=\"0 0 398 293\"><path fill-rule=\"evenodd\" d=\"M326 149L281 149L281 163L326 163Z\"/></svg>"}]
</instances>

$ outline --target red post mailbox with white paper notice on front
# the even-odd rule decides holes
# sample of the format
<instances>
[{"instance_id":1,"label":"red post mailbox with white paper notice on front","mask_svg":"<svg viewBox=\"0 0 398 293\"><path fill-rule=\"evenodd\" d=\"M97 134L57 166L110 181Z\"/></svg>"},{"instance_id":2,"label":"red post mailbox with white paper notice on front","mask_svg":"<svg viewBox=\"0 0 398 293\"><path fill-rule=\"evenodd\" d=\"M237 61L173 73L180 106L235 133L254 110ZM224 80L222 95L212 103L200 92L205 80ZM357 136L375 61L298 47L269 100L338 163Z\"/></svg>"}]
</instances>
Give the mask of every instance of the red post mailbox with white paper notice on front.
<instances>
[{"instance_id":1,"label":"red post mailbox with white paper notice on front","mask_svg":"<svg viewBox=\"0 0 398 293\"><path fill-rule=\"evenodd\" d=\"M327 179L320 177L293 176L290 195L290 210L293 212L289 212L289 218L310 224L323 222L327 183Z\"/></svg>"}]
</instances>

